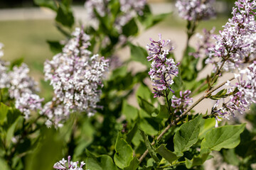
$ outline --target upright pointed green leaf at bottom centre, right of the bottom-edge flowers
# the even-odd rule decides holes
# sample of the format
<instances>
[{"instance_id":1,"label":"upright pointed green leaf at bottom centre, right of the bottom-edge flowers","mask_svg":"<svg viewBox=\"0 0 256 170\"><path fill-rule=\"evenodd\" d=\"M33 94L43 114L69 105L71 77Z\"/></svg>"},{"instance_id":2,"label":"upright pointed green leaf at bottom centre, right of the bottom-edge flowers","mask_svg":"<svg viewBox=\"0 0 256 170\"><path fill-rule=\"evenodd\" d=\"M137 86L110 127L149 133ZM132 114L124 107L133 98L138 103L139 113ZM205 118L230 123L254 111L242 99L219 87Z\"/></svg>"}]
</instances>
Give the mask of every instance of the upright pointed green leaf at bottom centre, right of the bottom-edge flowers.
<instances>
[{"instance_id":1,"label":"upright pointed green leaf at bottom centre, right of the bottom-edge flowers","mask_svg":"<svg viewBox=\"0 0 256 170\"><path fill-rule=\"evenodd\" d=\"M129 166L132 161L132 147L130 147L127 142L121 138L121 134L119 133L117 137L117 141L114 145L114 149L116 153L114 154L114 163L121 169Z\"/></svg>"}]
</instances>

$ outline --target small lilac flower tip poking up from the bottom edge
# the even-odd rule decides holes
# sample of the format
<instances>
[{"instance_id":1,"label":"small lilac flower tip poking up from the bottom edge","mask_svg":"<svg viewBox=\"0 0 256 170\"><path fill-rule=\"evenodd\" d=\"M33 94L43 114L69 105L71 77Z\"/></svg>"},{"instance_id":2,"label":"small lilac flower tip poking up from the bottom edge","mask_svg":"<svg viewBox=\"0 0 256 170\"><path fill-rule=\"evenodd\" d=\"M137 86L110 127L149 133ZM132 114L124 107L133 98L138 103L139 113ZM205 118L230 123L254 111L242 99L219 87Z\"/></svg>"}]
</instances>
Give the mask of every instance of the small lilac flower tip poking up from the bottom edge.
<instances>
[{"instance_id":1,"label":"small lilac flower tip poking up from the bottom edge","mask_svg":"<svg viewBox=\"0 0 256 170\"><path fill-rule=\"evenodd\" d=\"M79 164L80 164L80 166L79 166ZM68 161L63 158L59 162L56 162L53 165L53 168L58 169L58 170L83 170L82 166L84 166L84 165L85 165L85 162L80 162L80 163L72 162L71 157L68 156Z\"/></svg>"}]
</instances>

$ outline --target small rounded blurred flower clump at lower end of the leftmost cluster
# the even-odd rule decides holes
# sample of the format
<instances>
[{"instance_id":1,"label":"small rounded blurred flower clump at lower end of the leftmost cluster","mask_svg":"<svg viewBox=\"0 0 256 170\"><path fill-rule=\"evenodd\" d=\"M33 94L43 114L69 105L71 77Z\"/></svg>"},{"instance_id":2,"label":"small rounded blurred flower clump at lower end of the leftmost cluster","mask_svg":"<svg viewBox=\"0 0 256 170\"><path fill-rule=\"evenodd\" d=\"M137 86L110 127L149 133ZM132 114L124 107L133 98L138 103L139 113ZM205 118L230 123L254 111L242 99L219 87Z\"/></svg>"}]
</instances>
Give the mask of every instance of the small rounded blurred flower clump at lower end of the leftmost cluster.
<instances>
[{"instance_id":1,"label":"small rounded blurred flower clump at lower end of the leftmost cluster","mask_svg":"<svg viewBox=\"0 0 256 170\"><path fill-rule=\"evenodd\" d=\"M38 111L42 109L43 98L36 94L21 94L21 97L15 101L15 107L24 114L24 118L28 119L31 111Z\"/></svg>"}]
</instances>

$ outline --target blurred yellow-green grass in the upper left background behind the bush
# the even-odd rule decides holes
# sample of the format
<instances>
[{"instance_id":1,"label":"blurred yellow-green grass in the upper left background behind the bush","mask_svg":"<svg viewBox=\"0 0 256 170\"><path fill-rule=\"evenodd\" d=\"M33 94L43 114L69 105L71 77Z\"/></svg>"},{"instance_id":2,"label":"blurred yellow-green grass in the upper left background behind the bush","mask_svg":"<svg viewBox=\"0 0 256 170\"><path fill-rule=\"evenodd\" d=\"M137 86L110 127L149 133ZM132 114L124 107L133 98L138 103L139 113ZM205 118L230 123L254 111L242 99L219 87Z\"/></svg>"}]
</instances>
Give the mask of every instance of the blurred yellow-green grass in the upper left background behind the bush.
<instances>
[{"instance_id":1,"label":"blurred yellow-green grass in the upper left background behind the bush","mask_svg":"<svg viewBox=\"0 0 256 170\"><path fill-rule=\"evenodd\" d=\"M4 60L23 57L31 71L53 57L46 40L64 40L54 21L0 21L0 42L4 43Z\"/></svg>"}]
</instances>

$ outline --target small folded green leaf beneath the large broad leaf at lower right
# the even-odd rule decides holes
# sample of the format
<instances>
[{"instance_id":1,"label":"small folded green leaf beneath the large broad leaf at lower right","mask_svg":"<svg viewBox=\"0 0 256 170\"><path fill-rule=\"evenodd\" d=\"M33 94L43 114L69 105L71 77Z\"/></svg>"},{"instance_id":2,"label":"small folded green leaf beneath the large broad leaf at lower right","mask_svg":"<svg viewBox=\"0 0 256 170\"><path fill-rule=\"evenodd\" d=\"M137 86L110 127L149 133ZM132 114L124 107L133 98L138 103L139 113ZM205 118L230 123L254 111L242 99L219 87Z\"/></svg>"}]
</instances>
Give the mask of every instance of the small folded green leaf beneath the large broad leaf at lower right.
<instances>
[{"instance_id":1,"label":"small folded green leaf beneath the large broad leaf at lower right","mask_svg":"<svg viewBox=\"0 0 256 170\"><path fill-rule=\"evenodd\" d=\"M198 156L194 156L193 159L189 160L186 159L186 168L191 169L193 166L202 165L204 162L206 162L206 159L208 158L208 155L210 154L210 149L202 149L200 154Z\"/></svg>"}]
</instances>

